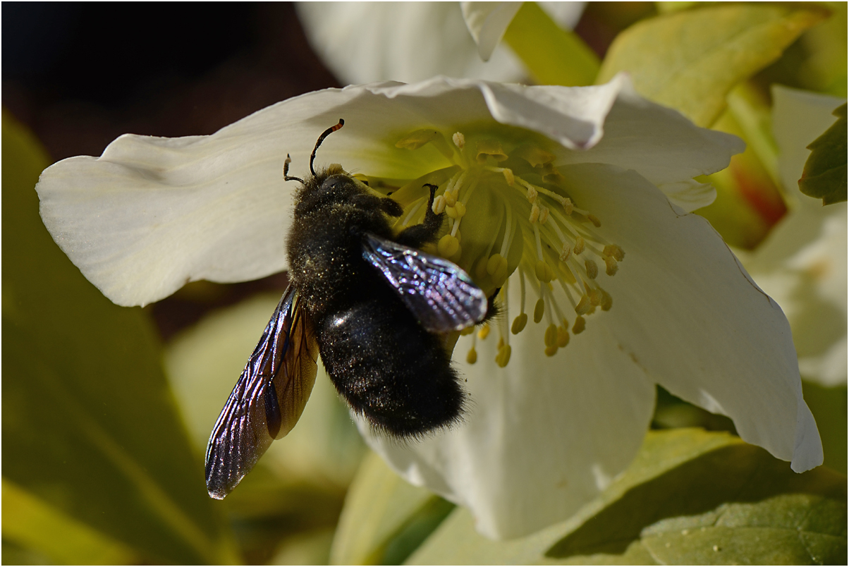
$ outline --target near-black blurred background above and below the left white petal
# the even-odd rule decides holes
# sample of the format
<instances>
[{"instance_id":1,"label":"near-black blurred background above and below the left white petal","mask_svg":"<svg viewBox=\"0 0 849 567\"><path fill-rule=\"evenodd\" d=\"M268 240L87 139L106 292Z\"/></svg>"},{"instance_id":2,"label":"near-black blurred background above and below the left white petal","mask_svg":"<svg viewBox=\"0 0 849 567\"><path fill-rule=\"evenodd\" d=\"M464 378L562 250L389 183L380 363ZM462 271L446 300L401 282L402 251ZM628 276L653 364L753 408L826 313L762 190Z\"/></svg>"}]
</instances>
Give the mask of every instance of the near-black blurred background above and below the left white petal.
<instances>
[{"instance_id":1,"label":"near-black blurred background above and below the left white petal","mask_svg":"<svg viewBox=\"0 0 849 567\"><path fill-rule=\"evenodd\" d=\"M339 87L290 3L3 3L3 108L53 160L121 134L211 134L269 104ZM149 306L164 340L284 274L196 282Z\"/></svg>"}]
</instances>

